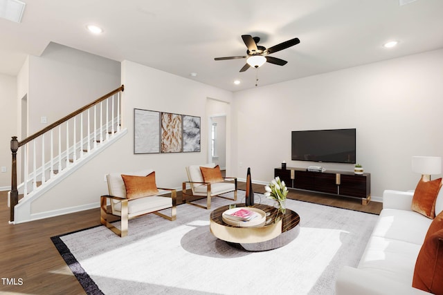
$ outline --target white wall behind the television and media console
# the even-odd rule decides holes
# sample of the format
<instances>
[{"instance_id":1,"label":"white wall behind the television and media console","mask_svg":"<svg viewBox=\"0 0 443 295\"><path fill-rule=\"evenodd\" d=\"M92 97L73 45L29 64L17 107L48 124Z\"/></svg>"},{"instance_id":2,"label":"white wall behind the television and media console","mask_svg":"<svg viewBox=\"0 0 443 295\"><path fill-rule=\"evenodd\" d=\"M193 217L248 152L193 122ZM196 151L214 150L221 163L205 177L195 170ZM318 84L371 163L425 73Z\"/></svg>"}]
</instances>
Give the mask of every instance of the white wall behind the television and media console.
<instances>
[{"instance_id":1,"label":"white wall behind the television and media console","mask_svg":"<svg viewBox=\"0 0 443 295\"><path fill-rule=\"evenodd\" d=\"M435 50L235 93L237 175L251 166L254 180L269 182L283 160L318 164L291 161L291 131L356 128L356 161L371 173L372 196L414 189L411 157L443 156L442 69L443 50Z\"/></svg>"}]
</instances>

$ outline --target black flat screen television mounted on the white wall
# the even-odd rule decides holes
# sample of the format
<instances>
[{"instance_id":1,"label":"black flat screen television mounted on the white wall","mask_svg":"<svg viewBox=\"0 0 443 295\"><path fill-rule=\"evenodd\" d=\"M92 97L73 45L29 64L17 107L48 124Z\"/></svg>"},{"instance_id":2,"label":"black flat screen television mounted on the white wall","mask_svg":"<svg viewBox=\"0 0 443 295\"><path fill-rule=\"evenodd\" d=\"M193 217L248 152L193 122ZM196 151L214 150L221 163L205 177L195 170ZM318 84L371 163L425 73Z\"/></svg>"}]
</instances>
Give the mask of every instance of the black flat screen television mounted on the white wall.
<instances>
[{"instance_id":1,"label":"black flat screen television mounted on the white wall","mask_svg":"<svg viewBox=\"0 0 443 295\"><path fill-rule=\"evenodd\" d=\"M356 129L292 131L291 159L355 164Z\"/></svg>"}]
</instances>

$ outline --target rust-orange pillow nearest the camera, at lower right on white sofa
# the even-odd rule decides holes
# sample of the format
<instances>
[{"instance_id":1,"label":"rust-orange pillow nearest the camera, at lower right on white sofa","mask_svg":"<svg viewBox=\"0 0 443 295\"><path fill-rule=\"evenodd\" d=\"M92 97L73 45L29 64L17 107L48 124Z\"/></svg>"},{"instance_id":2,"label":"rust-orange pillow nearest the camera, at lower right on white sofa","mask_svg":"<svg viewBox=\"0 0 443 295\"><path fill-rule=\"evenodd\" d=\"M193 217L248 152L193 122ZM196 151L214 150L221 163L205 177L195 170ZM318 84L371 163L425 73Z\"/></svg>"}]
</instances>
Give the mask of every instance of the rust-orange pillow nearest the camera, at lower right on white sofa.
<instances>
[{"instance_id":1,"label":"rust-orange pillow nearest the camera, at lower right on white sofa","mask_svg":"<svg viewBox=\"0 0 443 295\"><path fill-rule=\"evenodd\" d=\"M413 287L443 294L443 229L424 240L415 263Z\"/></svg>"}]
</instances>

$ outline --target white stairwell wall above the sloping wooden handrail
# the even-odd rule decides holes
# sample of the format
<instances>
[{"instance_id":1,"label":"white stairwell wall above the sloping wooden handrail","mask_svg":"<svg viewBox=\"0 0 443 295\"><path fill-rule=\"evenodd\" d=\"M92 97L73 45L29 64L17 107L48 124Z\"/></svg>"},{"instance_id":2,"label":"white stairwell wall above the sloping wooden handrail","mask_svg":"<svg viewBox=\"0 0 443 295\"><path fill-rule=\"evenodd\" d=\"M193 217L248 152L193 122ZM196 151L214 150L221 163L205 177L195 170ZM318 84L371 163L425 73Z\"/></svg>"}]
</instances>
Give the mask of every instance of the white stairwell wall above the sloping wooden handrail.
<instances>
[{"instance_id":1,"label":"white stairwell wall above the sloping wooden handrail","mask_svg":"<svg viewBox=\"0 0 443 295\"><path fill-rule=\"evenodd\" d=\"M28 135L120 86L120 63L51 43L29 59ZM47 117L47 124L40 123Z\"/></svg>"}]
</instances>

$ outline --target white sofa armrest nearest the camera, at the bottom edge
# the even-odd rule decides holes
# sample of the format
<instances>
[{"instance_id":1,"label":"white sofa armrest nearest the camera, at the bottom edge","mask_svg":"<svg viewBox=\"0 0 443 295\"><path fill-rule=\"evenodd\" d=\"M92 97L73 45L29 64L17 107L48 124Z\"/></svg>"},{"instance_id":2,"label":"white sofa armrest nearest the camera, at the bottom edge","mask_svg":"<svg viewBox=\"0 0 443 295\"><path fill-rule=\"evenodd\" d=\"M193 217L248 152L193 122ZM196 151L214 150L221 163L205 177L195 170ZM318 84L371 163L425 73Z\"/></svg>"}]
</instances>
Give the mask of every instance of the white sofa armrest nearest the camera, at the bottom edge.
<instances>
[{"instance_id":1,"label":"white sofa armrest nearest the camera, at the bottom edge","mask_svg":"<svg viewBox=\"0 0 443 295\"><path fill-rule=\"evenodd\" d=\"M386 276L345 266L336 278L336 295L429 295L431 293L390 280Z\"/></svg>"}]
</instances>

